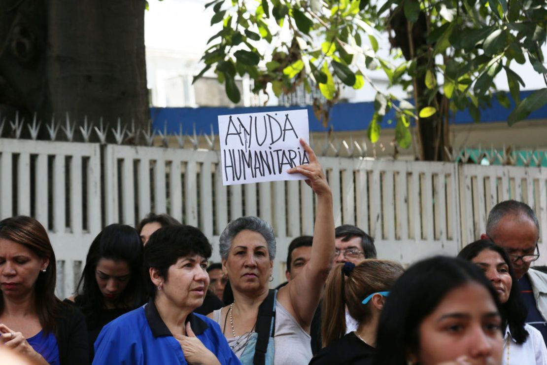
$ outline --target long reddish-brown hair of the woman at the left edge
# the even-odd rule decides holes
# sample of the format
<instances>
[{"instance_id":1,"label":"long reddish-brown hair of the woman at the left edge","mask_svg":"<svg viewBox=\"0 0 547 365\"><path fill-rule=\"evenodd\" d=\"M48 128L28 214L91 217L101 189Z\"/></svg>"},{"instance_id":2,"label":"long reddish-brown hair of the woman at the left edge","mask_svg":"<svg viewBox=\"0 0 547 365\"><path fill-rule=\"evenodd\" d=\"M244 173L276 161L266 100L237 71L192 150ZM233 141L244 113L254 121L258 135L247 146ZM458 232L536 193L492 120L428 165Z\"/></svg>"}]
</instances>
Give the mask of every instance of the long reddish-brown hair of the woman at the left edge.
<instances>
[{"instance_id":1,"label":"long reddish-brown hair of the woman at the left edge","mask_svg":"<svg viewBox=\"0 0 547 365\"><path fill-rule=\"evenodd\" d=\"M55 280L57 277L55 253L48 233L36 219L17 216L0 221L0 238L25 246L39 258L49 259L45 273L40 271L34 283L34 305L40 326L46 333L55 332L56 320L59 317L59 304L55 297ZM0 314L4 311L4 299L0 296Z\"/></svg>"}]
</instances>

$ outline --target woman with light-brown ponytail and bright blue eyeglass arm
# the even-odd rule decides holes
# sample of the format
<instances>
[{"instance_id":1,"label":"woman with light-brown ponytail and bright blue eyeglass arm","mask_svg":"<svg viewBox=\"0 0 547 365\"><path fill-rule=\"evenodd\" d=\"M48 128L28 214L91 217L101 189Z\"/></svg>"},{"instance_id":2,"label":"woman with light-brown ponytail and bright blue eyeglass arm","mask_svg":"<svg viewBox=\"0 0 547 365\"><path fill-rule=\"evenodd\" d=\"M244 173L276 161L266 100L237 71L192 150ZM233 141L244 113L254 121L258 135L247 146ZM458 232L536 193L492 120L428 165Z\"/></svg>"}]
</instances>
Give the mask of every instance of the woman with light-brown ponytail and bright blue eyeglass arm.
<instances>
[{"instance_id":1,"label":"woman with light-brown ponytail and bright blue eyeglass arm","mask_svg":"<svg viewBox=\"0 0 547 365\"><path fill-rule=\"evenodd\" d=\"M323 299L324 348L310 364L371 364L380 313L389 289L403 271L396 262L377 259L336 265ZM357 330L348 334L346 306L358 322Z\"/></svg>"}]
</instances>

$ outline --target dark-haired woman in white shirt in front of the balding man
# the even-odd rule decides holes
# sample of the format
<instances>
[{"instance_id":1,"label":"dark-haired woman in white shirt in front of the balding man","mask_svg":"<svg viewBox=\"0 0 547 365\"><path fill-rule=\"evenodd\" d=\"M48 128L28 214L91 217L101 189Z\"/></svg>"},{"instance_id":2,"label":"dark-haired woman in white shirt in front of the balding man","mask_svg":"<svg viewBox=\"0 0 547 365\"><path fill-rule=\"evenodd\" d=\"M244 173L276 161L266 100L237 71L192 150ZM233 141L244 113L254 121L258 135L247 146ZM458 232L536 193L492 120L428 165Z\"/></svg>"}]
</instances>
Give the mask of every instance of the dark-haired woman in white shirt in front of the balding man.
<instances>
[{"instance_id":1,"label":"dark-haired woman in white shirt in front of the balding man","mask_svg":"<svg viewBox=\"0 0 547 365\"><path fill-rule=\"evenodd\" d=\"M458 257L479 266L498 293L503 318L503 364L547 364L542 334L525 322L526 306L507 252L491 241L479 240L465 246Z\"/></svg>"}]
</instances>

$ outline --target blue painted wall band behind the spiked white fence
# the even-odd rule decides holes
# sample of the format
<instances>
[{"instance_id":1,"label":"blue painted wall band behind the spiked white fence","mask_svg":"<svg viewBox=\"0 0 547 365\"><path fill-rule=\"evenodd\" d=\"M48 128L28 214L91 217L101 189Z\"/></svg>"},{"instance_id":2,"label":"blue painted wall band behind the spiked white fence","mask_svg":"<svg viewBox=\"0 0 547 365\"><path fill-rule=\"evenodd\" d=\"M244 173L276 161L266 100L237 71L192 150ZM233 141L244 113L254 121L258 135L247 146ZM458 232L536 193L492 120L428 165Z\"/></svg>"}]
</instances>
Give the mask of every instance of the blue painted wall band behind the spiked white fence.
<instances>
[{"instance_id":1,"label":"blue painted wall band behind the spiked white fence","mask_svg":"<svg viewBox=\"0 0 547 365\"><path fill-rule=\"evenodd\" d=\"M521 98L528 96L532 91L522 91ZM492 108L481 110L481 122L492 123L494 121L507 120L509 113L513 110L515 102L511 99L508 93L509 100L511 102L511 108L507 109L499 104L494 98L492 100ZM225 114L240 114L240 113L258 113L269 111L284 111L292 109L308 110L308 116L310 118L310 131L322 132L327 131L328 128L324 128L320 121L315 118L313 109L311 106L297 106L297 107L252 107L252 108L150 108L150 114L152 118L153 128L163 129L164 123L167 121L168 134L179 132L179 123L183 124L183 132L190 134L193 131L193 126L196 126L196 132L210 133L211 125L215 134L218 134L218 119L217 115ZM370 119L374 113L373 102L360 102L360 103L338 103L331 109L331 118L329 126L336 131L357 131L366 130L370 123ZM389 119L394 118L393 109L383 118L382 129L395 128L395 123L388 124ZM528 116L527 119L547 119L547 105L539 108ZM471 115L465 112L458 112L455 118L456 124L468 124L474 123Z\"/></svg>"}]
</instances>

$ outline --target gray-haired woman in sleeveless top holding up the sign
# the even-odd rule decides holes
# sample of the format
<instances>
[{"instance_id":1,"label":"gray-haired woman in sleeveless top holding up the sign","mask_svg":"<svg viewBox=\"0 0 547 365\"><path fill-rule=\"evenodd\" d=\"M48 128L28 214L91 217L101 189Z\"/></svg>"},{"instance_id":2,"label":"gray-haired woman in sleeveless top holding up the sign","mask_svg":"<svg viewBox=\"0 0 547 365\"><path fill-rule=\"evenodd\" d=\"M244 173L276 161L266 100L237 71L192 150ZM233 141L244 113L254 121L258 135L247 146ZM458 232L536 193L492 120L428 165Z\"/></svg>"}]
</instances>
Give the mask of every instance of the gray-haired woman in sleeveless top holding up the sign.
<instances>
[{"instance_id":1,"label":"gray-haired woman in sleeveless top holding up the sign","mask_svg":"<svg viewBox=\"0 0 547 365\"><path fill-rule=\"evenodd\" d=\"M307 364L312 358L310 325L334 253L333 197L315 153L300 143L310 164L288 172L304 175L317 195L311 258L301 273L279 291L269 290L276 243L271 225L260 218L238 218L220 236L223 273L234 303L209 317L244 365Z\"/></svg>"}]
</instances>

